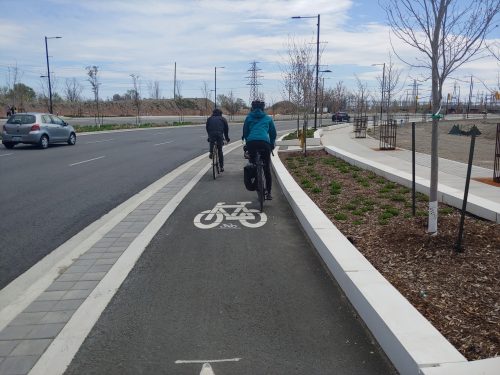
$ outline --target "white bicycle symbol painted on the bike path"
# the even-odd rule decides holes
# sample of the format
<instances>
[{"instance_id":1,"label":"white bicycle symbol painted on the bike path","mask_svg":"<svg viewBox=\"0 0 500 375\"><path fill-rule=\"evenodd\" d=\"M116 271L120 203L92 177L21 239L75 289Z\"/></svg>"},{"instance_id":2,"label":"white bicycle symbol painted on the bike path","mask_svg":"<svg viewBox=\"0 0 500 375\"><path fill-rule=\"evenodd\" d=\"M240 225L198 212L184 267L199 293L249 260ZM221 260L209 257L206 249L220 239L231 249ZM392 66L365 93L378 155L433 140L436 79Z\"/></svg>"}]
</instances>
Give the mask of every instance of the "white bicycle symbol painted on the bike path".
<instances>
[{"instance_id":1,"label":"white bicycle symbol painted on the bike path","mask_svg":"<svg viewBox=\"0 0 500 375\"><path fill-rule=\"evenodd\" d=\"M236 204L225 204L218 202L211 210L205 210L197 214L193 224L200 229L211 229L217 227L224 220L239 221L241 225L247 228L258 228L266 224L267 215L264 212L253 208L247 208L246 205L252 202L236 202ZM233 210L232 213L228 212ZM224 227L228 229L228 227Z\"/></svg>"}]
</instances>

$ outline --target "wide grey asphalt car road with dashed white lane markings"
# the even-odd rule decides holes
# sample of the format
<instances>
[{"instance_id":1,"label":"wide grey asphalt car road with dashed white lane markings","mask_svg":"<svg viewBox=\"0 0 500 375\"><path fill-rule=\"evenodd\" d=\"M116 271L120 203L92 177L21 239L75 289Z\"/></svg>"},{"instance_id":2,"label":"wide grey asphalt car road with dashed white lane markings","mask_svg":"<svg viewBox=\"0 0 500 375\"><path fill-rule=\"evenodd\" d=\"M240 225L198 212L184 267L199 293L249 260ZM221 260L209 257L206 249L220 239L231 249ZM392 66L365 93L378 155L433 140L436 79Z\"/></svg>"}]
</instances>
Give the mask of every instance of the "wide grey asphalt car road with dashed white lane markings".
<instances>
[{"instance_id":1,"label":"wide grey asphalt car road with dashed white lane markings","mask_svg":"<svg viewBox=\"0 0 500 375\"><path fill-rule=\"evenodd\" d=\"M204 126L186 126L79 135L46 150L0 146L0 289L207 145Z\"/></svg>"}]
</instances>

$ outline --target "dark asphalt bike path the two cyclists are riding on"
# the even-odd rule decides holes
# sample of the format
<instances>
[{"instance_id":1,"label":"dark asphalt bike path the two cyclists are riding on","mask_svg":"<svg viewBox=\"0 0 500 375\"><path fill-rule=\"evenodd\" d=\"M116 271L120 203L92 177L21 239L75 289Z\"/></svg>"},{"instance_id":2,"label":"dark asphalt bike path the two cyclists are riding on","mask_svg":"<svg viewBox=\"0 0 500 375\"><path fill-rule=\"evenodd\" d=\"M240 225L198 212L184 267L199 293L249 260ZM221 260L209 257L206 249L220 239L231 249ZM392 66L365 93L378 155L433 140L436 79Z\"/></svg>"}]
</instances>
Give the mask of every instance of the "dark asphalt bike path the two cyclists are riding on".
<instances>
[{"instance_id":1,"label":"dark asphalt bike path the two cyclists are riding on","mask_svg":"<svg viewBox=\"0 0 500 375\"><path fill-rule=\"evenodd\" d=\"M256 208L245 160L206 173L148 245L67 374L388 374L279 186L267 221L201 229L218 202ZM228 208L228 213L233 209ZM248 214L247 214L248 216ZM257 221L257 220L255 220Z\"/></svg>"}]
</instances>

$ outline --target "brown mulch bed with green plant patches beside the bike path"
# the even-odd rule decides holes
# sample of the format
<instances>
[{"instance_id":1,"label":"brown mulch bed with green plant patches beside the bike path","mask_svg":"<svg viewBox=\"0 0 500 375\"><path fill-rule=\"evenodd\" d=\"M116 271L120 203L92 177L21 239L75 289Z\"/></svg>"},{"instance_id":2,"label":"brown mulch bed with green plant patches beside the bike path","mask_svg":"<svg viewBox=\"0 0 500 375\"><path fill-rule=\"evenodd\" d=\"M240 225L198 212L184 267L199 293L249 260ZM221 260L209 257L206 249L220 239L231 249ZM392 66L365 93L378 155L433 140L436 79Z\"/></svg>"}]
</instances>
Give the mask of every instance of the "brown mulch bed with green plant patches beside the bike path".
<instances>
[{"instance_id":1,"label":"brown mulch bed with green plant patches beside the bike path","mask_svg":"<svg viewBox=\"0 0 500 375\"><path fill-rule=\"evenodd\" d=\"M500 225L439 205L427 229L428 198L324 151L280 153L298 184L356 248L468 360L500 354ZM500 194L500 190L499 190Z\"/></svg>"}]
</instances>

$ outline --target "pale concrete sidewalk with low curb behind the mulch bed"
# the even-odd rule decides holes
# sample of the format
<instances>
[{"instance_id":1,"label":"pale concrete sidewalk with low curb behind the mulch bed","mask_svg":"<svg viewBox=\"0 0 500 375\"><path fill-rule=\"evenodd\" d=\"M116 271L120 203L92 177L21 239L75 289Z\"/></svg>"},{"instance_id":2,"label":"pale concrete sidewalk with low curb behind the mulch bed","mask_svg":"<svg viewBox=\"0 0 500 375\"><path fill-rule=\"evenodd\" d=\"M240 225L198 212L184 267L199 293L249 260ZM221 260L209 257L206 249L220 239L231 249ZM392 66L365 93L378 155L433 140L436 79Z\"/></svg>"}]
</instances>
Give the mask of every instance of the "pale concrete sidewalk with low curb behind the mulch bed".
<instances>
[{"instance_id":1,"label":"pale concrete sidewalk with low curb behind the mulch bed","mask_svg":"<svg viewBox=\"0 0 500 375\"><path fill-rule=\"evenodd\" d=\"M370 137L355 138L352 127L331 126L322 129L321 142L325 150L351 164L372 170L391 181L411 187L411 150L379 151L379 141ZM416 190L429 194L430 155L416 153ZM462 208L467 176L467 164L439 158L438 201ZM476 178L489 178L493 170L473 166L467 200L467 211L500 223L500 188Z\"/></svg>"}]
</instances>

